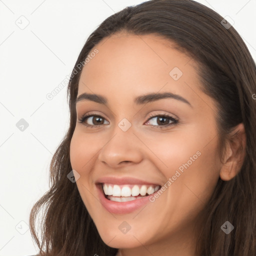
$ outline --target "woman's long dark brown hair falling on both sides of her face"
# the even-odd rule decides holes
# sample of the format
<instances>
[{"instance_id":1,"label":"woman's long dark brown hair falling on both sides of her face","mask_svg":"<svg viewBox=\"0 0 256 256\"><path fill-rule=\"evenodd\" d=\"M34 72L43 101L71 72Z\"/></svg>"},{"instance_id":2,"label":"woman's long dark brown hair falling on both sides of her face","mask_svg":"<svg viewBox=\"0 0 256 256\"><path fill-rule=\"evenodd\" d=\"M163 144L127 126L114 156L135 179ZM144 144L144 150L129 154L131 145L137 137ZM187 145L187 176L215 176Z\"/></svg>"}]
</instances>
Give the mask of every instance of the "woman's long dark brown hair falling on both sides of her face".
<instances>
[{"instance_id":1,"label":"woman's long dark brown hair falling on both sides of her face","mask_svg":"<svg viewBox=\"0 0 256 256\"><path fill-rule=\"evenodd\" d=\"M237 31L224 24L222 16L193 0L149 0L109 16L90 34L69 80L70 126L50 163L50 189L30 212L30 230L39 255L117 253L117 248L107 246L100 238L76 184L70 182L67 174L72 169L69 145L76 124L74 102L81 73L75 67L103 38L120 31L163 36L198 63L201 89L218 106L220 154L231 129L241 122L244 124L243 165L231 180L219 178L205 206L196 255L256 255L256 67ZM40 210L43 210L38 222L41 237L35 231ZM226 220L234 226L229 234L220 229Z\"/></svg>"}]
</instances>

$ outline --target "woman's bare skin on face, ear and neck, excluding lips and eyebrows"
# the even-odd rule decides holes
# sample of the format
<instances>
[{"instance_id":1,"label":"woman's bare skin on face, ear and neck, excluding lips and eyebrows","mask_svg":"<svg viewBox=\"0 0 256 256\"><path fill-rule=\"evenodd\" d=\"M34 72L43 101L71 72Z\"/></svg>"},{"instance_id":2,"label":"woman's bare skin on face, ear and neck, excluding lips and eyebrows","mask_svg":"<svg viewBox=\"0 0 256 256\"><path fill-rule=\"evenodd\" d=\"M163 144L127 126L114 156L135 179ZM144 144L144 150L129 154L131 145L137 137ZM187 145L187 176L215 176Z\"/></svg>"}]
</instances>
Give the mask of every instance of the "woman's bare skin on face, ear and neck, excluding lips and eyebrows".
<instances>
[{"instance_id":1,"label":"woman's bare skin on face, ear and neck, excluding lips and eyebrows","mask_svg":"<svg viewBox=\"0 0 256 256\"><path fill-rule=\"evenodd\" d=\"M196 62L171 45L153 34L112 35L95 46L98 54L83 67L78 84L78 95L97 93L109 102L77 102L77 120L92 112L104 119L99 127L77 121L70 143L71 166L80 174L76 184L102 240L119 248L122 256L194 256L195 239L203 225L195 221L219 176L223 180L234 177L244 157L237 150L245 143L240 124L236 127L239 135L227 143L224 161L220 161L215 102L199 89ZM183 73L176 81L169 75L173 67ZM138 95L165 91L181 95L191 106L171 98L133 103ZM168 114L178 124L161 129L150 113ZM123 118L131 123L125 132L118 126ZM86 121L97 124L92 117ZM167 119L164 124L171 122ZM196 151L200 156L145 207L129 214L111 214L99 202L95 187L99 177L131 176L163 185ZM131 226L125 234L118 229L122 221Z\"/></svg>"}]
</instances>

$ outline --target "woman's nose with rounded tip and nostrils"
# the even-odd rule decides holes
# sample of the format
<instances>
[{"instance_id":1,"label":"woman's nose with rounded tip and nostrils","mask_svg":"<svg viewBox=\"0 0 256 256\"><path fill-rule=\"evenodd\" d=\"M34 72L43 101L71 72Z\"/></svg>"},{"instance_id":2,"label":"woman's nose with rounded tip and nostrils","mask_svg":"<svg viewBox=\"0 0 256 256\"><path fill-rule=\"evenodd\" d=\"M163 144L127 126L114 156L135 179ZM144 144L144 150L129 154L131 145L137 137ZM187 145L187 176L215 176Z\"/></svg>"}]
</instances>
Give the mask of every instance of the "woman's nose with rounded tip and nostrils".
<instances>
[{"instance_id":1,"label":"woman's nose with rounded tip and nostrils","mask_svg":"<svg viewBox=\"0 0 256 256\"><path fill-rule=\"evenodd\" d=\"M111 168L139 163L142 161L141 141L132 130L119 130L101 148L98 159Z\"/></svg>"}]
</instances>

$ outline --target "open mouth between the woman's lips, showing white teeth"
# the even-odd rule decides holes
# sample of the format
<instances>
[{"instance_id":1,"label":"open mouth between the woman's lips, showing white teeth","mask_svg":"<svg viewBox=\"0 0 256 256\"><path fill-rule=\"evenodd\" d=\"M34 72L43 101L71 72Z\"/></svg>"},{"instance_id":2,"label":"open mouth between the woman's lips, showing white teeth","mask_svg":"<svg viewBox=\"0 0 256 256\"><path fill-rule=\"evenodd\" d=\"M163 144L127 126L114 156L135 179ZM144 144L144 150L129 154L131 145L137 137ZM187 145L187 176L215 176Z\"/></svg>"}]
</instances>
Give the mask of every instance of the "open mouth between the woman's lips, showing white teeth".
<instances>
[{"instance_id":1,"label":"open mouth between the woman's lips, showing white teeth","mask_svg":"<svg viewBox=\"0 0 256 256\"><path fill-rule=\"evenodd\" d=\"M132 201L146 197L160 189L157 184L110 184L100 183L106 199L116 202Z\"/></svg>"}]
</instances>

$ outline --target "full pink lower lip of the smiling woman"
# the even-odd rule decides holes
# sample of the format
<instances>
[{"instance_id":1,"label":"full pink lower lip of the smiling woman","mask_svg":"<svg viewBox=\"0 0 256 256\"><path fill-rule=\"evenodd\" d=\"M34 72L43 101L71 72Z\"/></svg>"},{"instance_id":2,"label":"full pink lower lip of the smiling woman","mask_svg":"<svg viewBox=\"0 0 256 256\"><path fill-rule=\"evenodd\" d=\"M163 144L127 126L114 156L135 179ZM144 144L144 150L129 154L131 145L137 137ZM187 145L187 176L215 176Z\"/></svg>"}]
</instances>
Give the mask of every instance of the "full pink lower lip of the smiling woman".
<instances>
[{"instance_id":1,"label":"full pink lower lip of the smiling woman","mask_svg":"<svg viewBox=\"0 0 256 256\"><path fill-rule=\"evenodd\" d=\"M142 198L134 199L131 201L127 202L116 202L116 201L111 201L105 198L104 192L102 190L102 185L96 185L97 190L98 190L98 195L99 195L99 200L103 207L108 210L111 213L115 214L125 214L125 213L130 213L142 205L146 204L149 202L149 196L153 195L154 193L147 195ZM156 192L155 192L156 193Z\"/></svg>"}]
</instances>

